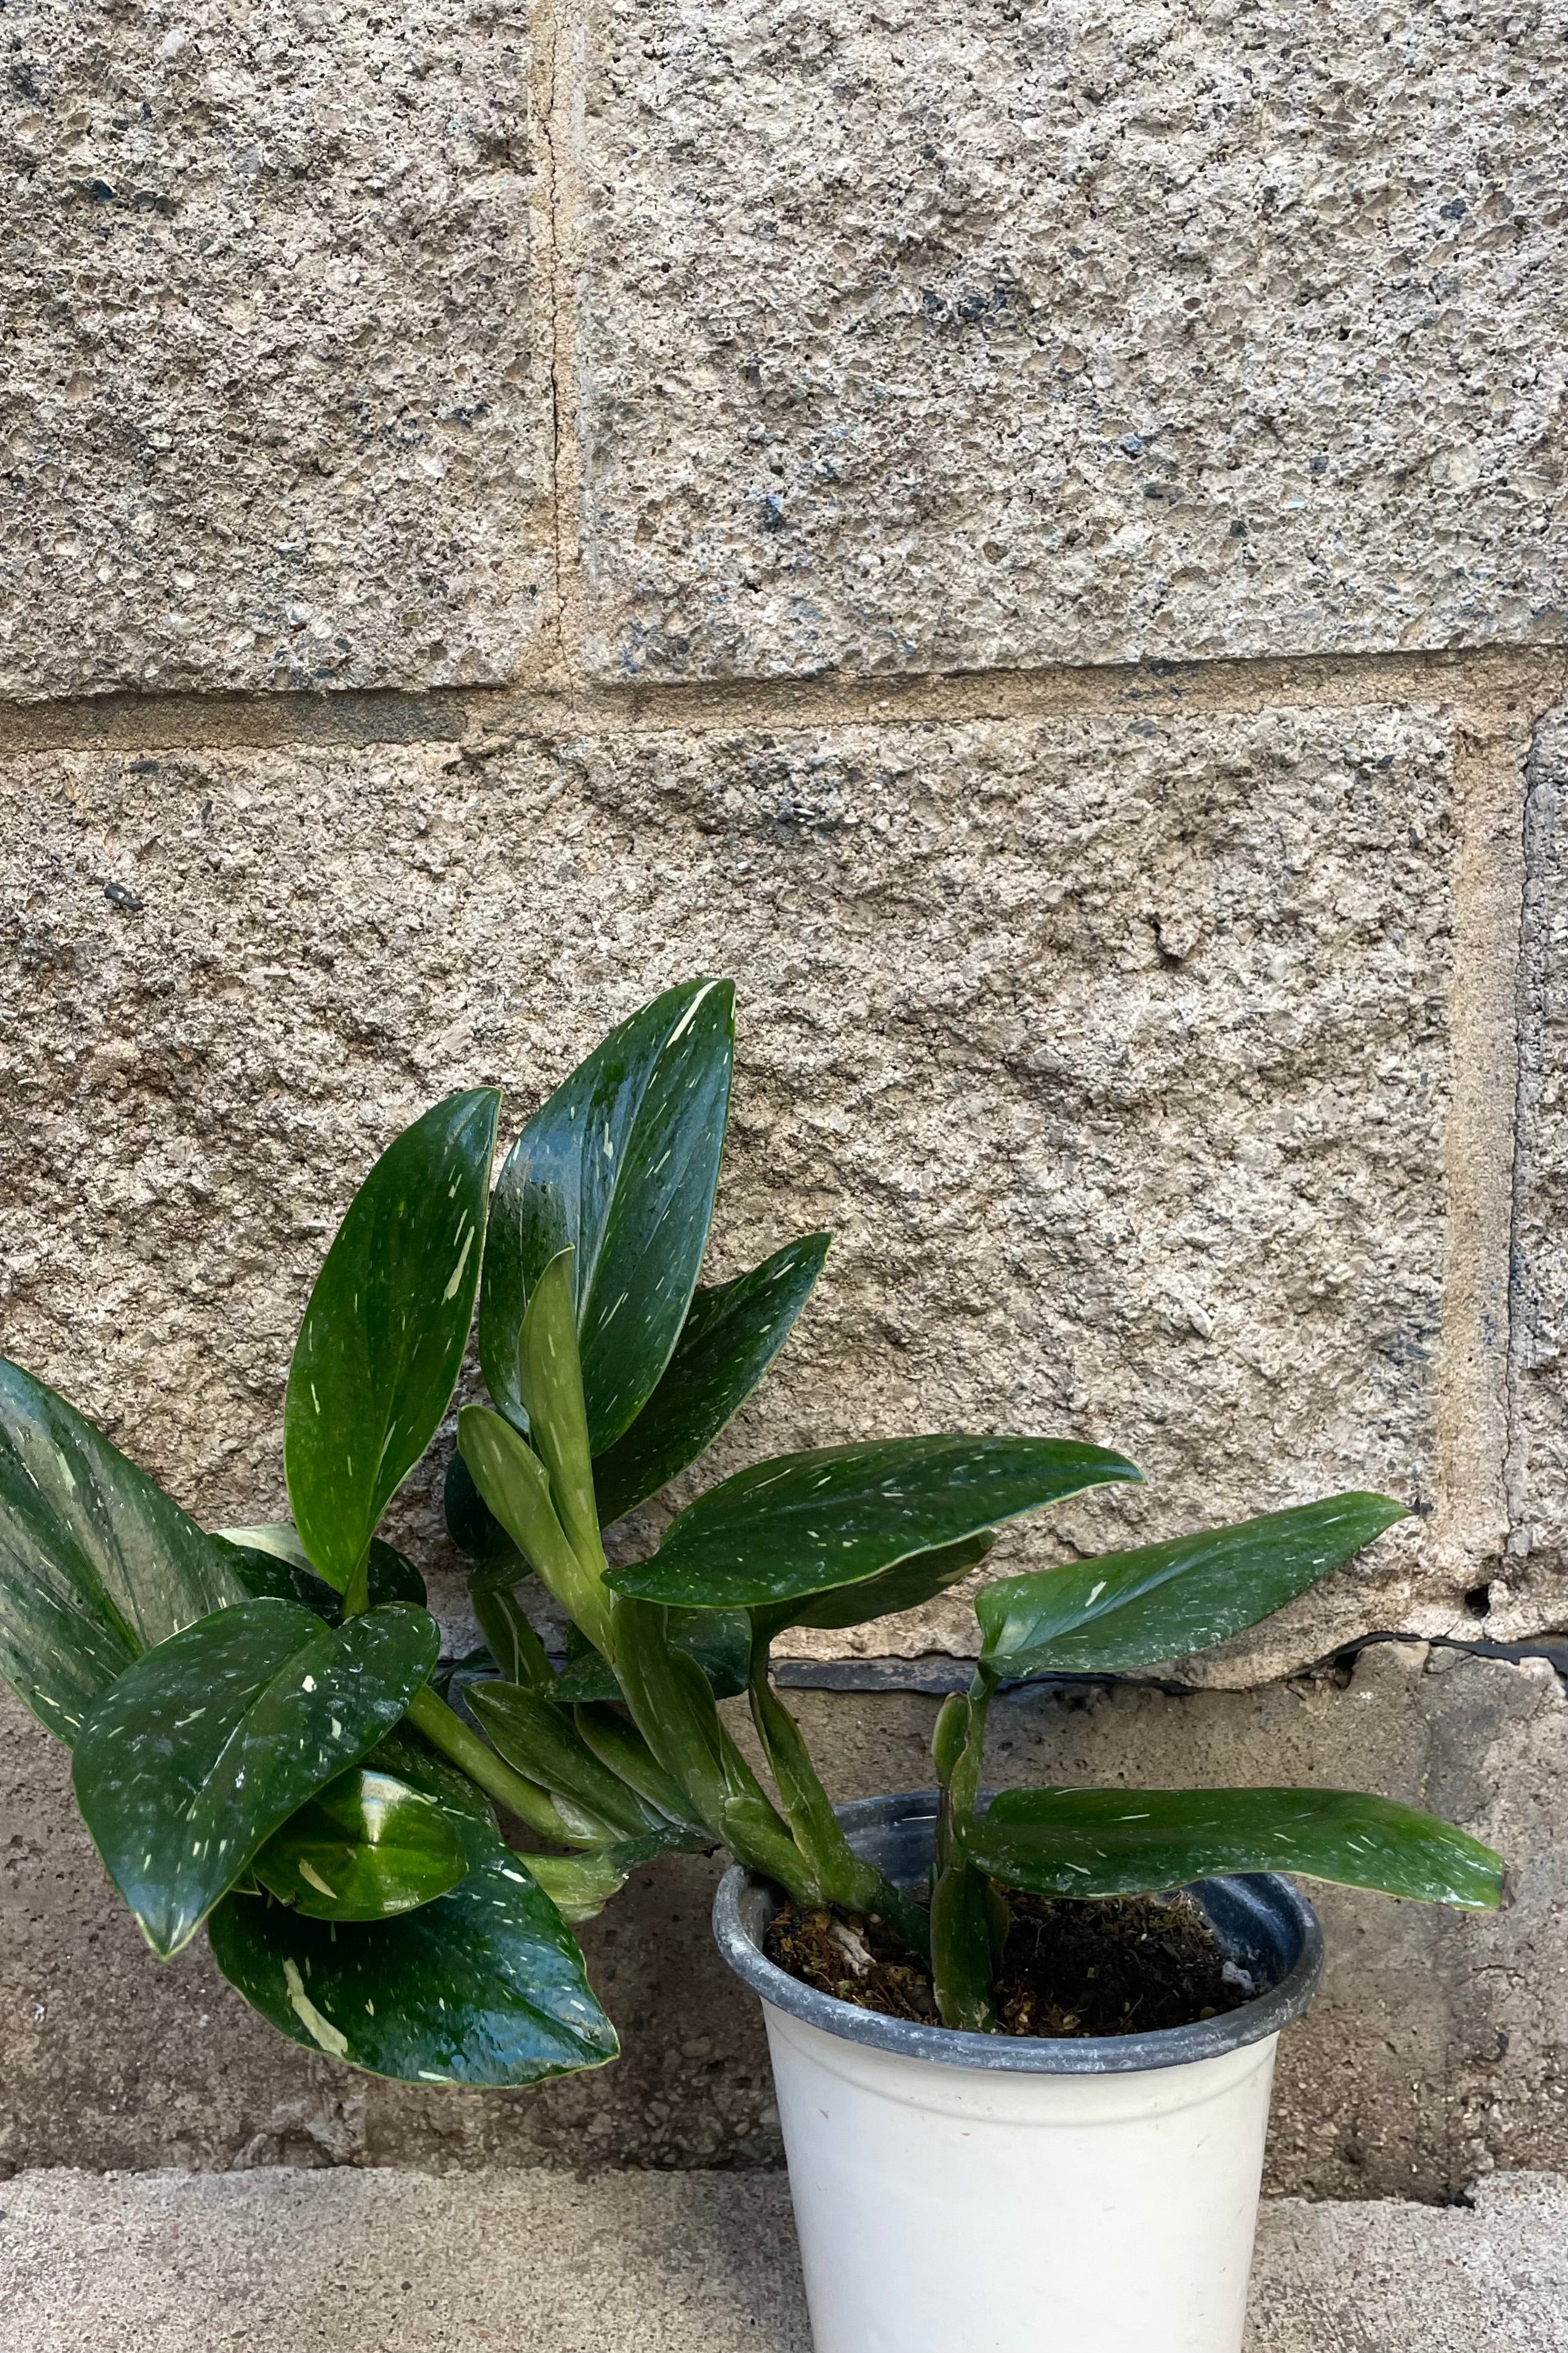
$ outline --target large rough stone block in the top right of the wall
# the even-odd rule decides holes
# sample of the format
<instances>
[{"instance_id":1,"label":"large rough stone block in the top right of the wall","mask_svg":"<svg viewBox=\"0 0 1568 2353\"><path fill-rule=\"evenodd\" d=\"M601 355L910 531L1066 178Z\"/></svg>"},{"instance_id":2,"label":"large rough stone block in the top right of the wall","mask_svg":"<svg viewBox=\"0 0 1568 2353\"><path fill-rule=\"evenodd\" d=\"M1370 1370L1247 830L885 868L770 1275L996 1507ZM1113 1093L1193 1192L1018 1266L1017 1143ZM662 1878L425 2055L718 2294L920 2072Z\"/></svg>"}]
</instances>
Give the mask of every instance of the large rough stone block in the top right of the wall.
<instances>
[{"instance_id":1,"label":"large rough stone block in the top right of the wall","mask_svg":"<svg viewBox=\"0 0 1568 2353\"><path fill-rule=\"evenodd\" d=\"M1563 31L592 0L595 666L1561 638Z\"/></svg>"}]
</instances>

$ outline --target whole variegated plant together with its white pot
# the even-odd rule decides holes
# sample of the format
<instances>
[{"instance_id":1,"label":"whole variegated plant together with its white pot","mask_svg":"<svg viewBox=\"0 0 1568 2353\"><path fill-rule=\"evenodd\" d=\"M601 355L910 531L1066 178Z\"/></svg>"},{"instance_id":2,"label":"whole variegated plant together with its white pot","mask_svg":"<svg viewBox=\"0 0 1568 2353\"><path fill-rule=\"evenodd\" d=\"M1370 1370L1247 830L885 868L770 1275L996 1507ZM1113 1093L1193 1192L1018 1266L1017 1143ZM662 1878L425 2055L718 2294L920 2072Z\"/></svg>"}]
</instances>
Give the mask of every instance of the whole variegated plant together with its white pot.
<instances>
[{"instance_id":1,"label":"whole variegated plant together with its white pot","mask_svg":"<svg viewBox=\"0 0 1568 2353\"><path fill-rule=\"evenodd\" d=\"M0 1671L73 1746L153 1951L205 1929L273 2026L378 2075L614 2059L569 1922L665 1849L724 1847L717 1934L766 2005L820 2353L1234 2353L1274 2040L1319 1969L1276 1873L1495 1906L1500 1861L1338 1791L992 1798L985 1718L1001 1682L1239 1633L1401 1506L1342 1494L983 1584L933 1788L835 1809L771 1645L910 1609L1006 1522L1138 1471L1077 1438L820 1447L609 1567L602 1529L729 1424L827 1252L813 1233L698 1289L731 1045L729 984L665 991L534 1113L494 1191L494 1089L393 1141L294 1348L287 1525L202 1532L0 1367ZM421 1577L376 1529L449 1412L475 1301L489 1402L458 1412L447 1520L487 1649L442 1682ZM766 1779L722 1708L741 1694ZM1110 2028L1051 2009L1067 1948L1100 1986L1133 1972ZM1201 2014L1154 2019L1143 1979L1175 1948L1173 1998Z\"/></svg>"}]
</instances>

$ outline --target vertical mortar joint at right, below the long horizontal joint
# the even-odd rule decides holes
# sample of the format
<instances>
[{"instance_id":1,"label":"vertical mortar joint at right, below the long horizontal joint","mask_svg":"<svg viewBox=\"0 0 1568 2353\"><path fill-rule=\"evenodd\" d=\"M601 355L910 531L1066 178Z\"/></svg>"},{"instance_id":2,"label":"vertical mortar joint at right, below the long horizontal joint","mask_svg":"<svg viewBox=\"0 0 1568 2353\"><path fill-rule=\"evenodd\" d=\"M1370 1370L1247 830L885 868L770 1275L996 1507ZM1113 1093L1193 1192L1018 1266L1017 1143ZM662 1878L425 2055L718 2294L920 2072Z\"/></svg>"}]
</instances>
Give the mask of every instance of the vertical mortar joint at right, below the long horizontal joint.
<instances>
[{"instance_id":1,"label":"vertical mortar joint at right, below the long horizontal joint","mask_svg":"<svg viewBox=\"0 0 1568 2353\"><path fill-rule=\"evenodd\" d=\"M1521 694L1455 701L1453 986L1443 1332L1439 1358L1436 1569L1481 1584L1507 1539L1507 1358L1519 1096L1523 767Z\"/></svg>"}]
</instances>

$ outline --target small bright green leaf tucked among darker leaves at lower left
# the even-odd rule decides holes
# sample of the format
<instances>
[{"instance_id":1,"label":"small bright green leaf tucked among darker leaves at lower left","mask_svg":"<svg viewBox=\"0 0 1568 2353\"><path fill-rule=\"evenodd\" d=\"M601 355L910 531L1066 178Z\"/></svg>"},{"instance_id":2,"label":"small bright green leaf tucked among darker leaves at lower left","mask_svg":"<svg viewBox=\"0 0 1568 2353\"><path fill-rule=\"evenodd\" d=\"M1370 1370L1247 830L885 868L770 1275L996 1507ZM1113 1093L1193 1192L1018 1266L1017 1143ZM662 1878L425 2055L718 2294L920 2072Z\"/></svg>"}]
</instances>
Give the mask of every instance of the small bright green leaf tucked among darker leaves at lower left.
<instances>
[{"instance_id":1,"label":"small bright green leaf tucked among darker leaves at lower left","mask_svg":"<svg viewBox=\"0 0 1568 2353\"><path fill-rule=\"evenodd\" d=\"M252 1878L313 1920L395 1920L468 1871L456 1819L390 1774L353 1765L273 1831Z\"/></svg>"}]
</instances>

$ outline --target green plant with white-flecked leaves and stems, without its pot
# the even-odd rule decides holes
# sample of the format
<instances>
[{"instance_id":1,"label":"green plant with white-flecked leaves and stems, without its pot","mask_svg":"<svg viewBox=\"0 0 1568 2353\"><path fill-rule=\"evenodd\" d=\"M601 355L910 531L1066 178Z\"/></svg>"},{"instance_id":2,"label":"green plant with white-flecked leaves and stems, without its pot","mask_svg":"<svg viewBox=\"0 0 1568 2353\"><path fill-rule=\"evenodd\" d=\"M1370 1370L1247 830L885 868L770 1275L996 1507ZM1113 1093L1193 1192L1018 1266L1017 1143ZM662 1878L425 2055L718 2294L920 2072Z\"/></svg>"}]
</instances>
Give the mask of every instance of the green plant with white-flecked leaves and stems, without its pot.
<instances>
[{"instance_id":1,"label":"green plant with white-flecked leaves and stems, without its pot","mask_svg":"<svg viewBox=\"0 0 1568 2353\"><path fill-rule=\"evenodd\" d=\"M797 1901L879 1913L966 2028L994 2024L997 1882L1110 1897L1286 1868L1497 1904L1497 1857L1385 1798L978 1795L997 1685L1239 1633L1403 1515L1375 1494L985 1584L973 1685L936 1729L929 1904L851 1852L771 1645L926 1602L1011 1520L1138 1471L1077 1438L820 1447L741 1471L651 1558L607 1565L602 1529L757 1388L827 1254L809 1233L698 1287L731 1045L726 981L665 991L529 1118L494 1191L489 1087L393 1141L294 1348L289 1525L200 1529L0 1367L0 1671L71 1744L78 1805L153 1951L205 1932L273 2026L371 2073L527 2085L616 2057L569 1922L675 1847L726 1847ZM454 1701L421 1577L376 1527L447 1417L475 1301L489 1402L458 1414L447 1515L487 1654ZM520 1602L534 1577L571 1626L564 1659ZM719 1713L736 1694L771 1786Z\"/></svg>"}]
</instances>

